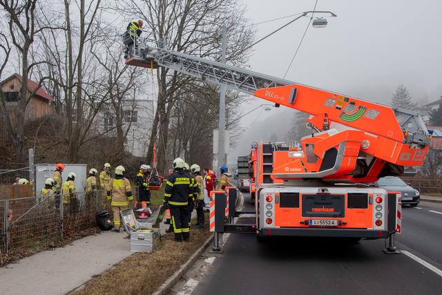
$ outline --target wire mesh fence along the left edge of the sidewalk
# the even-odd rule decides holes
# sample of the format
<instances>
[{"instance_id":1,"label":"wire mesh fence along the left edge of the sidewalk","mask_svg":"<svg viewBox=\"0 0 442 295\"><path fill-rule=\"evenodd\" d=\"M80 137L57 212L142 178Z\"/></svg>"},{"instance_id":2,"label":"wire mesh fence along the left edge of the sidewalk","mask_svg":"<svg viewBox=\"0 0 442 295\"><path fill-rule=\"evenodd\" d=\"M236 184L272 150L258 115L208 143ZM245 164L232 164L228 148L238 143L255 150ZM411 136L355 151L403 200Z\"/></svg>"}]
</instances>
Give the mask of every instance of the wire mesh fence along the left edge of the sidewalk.
<instances>
[{"instance_id":1,"label":"wire mesh fence along the left edge of the sidewalk","mask_svg":"<svg viewBox=\"0 0 442 295\"><path fill-rule=\"evenodd\" d=\"M137 200L137 187L132 191ZM112 216L106 191L76 193L68 204L63 204L63 196L0 200L0 256L60 245L77 232L95 227L95 214L102 210Z\"/></svg>"}]
</instances>

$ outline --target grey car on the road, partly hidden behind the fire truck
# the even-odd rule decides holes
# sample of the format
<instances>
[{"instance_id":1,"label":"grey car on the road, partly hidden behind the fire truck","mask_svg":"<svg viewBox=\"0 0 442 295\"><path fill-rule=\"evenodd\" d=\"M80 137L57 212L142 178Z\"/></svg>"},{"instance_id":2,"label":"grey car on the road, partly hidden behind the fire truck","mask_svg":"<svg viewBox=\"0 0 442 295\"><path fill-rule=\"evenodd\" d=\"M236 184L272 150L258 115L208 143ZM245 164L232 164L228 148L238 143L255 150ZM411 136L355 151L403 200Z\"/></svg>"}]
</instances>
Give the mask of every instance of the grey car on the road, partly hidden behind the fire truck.
<instances>
[{"instance_id":1,"label":"grey car on the road, partly hidden behind the fire truck","mask_svg":"<svg viewBox=\"0 0 442 295\"><path fill-rule=\"evenodd\" d=\"M410 187L401 178L386 176L379 178L375 185L376 187L387 189L387 191L400 191L402 193L402 204L410 204L410 206L415 207L421 201L421 193L417 189Z\"/></svg>"}]
</instances>

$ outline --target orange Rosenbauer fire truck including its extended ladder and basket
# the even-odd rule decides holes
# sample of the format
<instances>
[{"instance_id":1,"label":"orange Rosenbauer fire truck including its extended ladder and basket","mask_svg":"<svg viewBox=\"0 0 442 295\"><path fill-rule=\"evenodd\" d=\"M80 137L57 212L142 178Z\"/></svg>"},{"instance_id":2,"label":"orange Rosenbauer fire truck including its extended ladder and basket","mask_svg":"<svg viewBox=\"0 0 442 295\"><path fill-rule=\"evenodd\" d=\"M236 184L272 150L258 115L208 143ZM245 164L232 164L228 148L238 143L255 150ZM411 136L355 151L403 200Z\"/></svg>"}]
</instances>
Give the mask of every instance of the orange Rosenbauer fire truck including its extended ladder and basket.
<instances>
[{"instance_id":1,"label":"orange Rosenbauer fire truck including its extended ladder and basket","mask_svg":"<svg viewBox=\"0 0 442 295\"><path fill-rule=\"evenodd\" d=\"M175 52L166 42L135 44L128 65L163 66L310 115L311 134L297 146L253 144L255 222L234 225L219 213L216 231L251 232L258 239L376 239L401 231L400 195L367 183L423 163L430 135L419 113ZM289 120L280 118L280 124ZM217 193L221 200L224 192Z\"/></svg>"}]
</instances>

